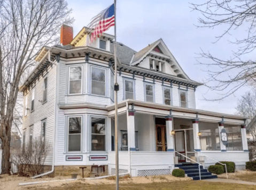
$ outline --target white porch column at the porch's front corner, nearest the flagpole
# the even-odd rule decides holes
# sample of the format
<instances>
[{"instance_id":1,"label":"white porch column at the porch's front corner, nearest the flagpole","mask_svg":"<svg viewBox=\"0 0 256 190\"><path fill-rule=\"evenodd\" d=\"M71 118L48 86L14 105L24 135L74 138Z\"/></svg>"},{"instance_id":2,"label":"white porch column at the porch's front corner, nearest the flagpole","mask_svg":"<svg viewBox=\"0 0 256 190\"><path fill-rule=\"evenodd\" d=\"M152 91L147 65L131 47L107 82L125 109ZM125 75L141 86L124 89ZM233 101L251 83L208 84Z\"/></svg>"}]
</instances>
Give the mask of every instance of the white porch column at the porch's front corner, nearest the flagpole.
<instances>
[{"instance_id":1,"label":"white porch column at the porch's front corner, nearest the flagpole","mask_svg":"<svg viewBox=\"0 0 256 190\"><path fill-rule=\"evenodd\" d=\"M130 151L136 151L134 112L134 110L129 110L127 118L128 147Z\"/></svg>"}]
</instances>

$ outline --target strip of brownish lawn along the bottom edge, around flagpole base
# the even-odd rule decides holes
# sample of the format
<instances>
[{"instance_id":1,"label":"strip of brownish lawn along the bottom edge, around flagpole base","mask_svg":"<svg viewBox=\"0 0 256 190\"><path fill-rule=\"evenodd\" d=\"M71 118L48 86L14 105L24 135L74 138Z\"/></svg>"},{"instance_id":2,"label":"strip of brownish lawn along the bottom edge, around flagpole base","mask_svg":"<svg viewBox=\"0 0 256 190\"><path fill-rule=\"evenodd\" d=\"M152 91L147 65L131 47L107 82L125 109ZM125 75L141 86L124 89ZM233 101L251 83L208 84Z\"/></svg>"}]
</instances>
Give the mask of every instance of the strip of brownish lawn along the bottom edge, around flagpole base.
<instances>
[{"instance_id":1,"label":"strip of brownish lawn along the bottom edge, around flagpole base","mask_svg":"<svg viewBox=\"0 0 256 190\"><path fill-rule=\"evenodd\" d=\"M40 190L45 189L47 185L45 185L44 188L35 188L33 187L33 190ZM31 187L28 187L27 189L32 189ZM115 185L89 185L83 182L76 182L76 183L69 183L69 184L63 184L59 187L51 187L51 190L63 190L63 189L70 189L70 190L84 190L84 189L115 189ZM174 181L174 182L161 182L161 183L151 183L151 184L120 184L120 190L127 190L127 189L147 189L147 190L167 190L167 189L175 189L175 190L183 190L183 189L225 189L225 190L234 190L234 189L256 189L256 186L252 185L243 185L243 184L227 184L227 183L211 183L208 181Z\"/></svg>"}]
</instances>

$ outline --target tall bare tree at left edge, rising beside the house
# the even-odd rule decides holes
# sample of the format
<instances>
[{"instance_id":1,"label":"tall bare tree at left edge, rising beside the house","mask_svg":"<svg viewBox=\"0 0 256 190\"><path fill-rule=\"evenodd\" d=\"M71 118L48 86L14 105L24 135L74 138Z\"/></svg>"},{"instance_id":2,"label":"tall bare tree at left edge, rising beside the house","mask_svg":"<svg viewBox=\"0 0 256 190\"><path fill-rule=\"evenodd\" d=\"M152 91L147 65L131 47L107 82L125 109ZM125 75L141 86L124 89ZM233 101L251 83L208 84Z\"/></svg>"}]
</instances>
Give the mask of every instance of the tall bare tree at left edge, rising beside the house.
<instances>
[{"instance_id":1,"label":"tall bare tree at left edge, rising beside the house","mask_svg":"<svg viewBox=\"0 0 256 190\"><path fill-rule=\"evenodd\" d=\"M19 85L42 46L59 42L61 24L73 23L65 0L5 0L0 5L0 138L2 174L10 174L10 140Z\"/></svg>"}]
</instances>

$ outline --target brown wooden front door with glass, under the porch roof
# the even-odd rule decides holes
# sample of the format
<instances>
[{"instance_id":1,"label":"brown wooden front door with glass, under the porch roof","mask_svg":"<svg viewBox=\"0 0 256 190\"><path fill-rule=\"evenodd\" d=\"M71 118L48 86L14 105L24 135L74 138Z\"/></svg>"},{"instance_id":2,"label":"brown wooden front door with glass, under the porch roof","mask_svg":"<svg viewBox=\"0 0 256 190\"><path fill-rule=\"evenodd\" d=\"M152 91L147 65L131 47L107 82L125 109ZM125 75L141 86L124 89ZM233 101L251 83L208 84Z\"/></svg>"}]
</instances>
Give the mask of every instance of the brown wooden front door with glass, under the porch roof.
<instances>
[{"instance_id":1,"label":"brown wooden front door with glass, under the porch roof","mask_svg":"<svg viewBox=\"0 0 256 190\"><path fill-rule=\"evenodd\" d=\"M156 125L157 151L167 151L166 126Z\"/></svg>"}]
</instances>

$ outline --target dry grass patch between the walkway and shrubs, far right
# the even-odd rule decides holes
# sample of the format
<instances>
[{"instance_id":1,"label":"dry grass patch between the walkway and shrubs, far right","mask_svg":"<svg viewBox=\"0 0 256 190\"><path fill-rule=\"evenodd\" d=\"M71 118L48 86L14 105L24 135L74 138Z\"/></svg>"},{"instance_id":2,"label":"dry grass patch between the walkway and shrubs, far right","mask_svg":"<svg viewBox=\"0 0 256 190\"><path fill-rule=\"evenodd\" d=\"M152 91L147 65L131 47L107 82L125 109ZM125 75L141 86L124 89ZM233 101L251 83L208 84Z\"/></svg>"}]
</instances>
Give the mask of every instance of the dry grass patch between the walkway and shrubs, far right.
<instances>
[{"instance_id":1,"label":"dry grass patch between the walkway and shrubs, far right","mask_svg":"<svg viewBox=\"0 0 256 190\"><path fill-rule=\"evenodd\" d=\"M226 173L218 175L218 178L226 178ZM228 173L228 178L256 183L256 171L236 171L235 173Z\"/></svg>"}]
</instances>

